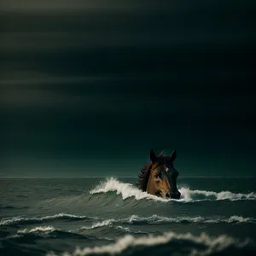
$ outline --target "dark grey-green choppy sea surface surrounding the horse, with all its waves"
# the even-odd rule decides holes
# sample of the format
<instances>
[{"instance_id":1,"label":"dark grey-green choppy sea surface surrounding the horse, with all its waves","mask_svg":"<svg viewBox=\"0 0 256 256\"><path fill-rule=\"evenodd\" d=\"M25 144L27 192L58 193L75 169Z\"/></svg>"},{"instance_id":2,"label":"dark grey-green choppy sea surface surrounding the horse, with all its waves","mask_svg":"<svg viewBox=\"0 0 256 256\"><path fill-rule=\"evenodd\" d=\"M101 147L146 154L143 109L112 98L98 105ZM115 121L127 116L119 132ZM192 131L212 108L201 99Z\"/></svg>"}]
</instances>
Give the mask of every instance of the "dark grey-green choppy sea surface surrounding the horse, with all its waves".
<instances>
[{"instance_id":1,"label":"dark grey-green choppy sea surface surrounding the horse, with all its waves","mask_svg":"<svg viewBox=\"0 0 256 256\"><path fill-rule=\"evenodd\" d=\"M0 179L0 255L256 255L256 178L179 177L179 201L136 177Z\"/></svg>"}]
</instances>

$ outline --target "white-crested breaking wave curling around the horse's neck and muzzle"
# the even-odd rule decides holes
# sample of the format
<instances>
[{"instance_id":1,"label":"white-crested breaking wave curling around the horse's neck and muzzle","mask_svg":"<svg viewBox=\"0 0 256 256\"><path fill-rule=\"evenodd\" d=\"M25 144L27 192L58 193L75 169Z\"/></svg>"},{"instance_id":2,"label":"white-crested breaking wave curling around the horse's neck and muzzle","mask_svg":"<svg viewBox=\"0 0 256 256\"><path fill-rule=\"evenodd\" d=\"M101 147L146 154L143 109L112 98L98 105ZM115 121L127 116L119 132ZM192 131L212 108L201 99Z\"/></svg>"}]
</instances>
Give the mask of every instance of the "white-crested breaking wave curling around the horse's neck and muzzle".
<instances>
[{"instance_id":1,"label":"white-crested breaking wave curling around the horse's neck and muzzle","mask_svg":"<svg viewBox=\"0 0 256 256\"><path fill-rule=\"evenodd\" d=\"M121 195L125 200L129 197L135 197L136 200L149 199L154 201L178 201L178 202L190 202L190 201L221 201L221 200L256 200L255 193L242 194L232 193L230 191L207 191L207 190L190 190L189 188L180 188L181 199L163 199L155 195L149 195L147 192L143 192L137 189L131 183L122 183L119 180L110 177L105 182L100 183L95 189L90 190L90 194L115 192L116 195Z\"/></svg>"}]
</instances>

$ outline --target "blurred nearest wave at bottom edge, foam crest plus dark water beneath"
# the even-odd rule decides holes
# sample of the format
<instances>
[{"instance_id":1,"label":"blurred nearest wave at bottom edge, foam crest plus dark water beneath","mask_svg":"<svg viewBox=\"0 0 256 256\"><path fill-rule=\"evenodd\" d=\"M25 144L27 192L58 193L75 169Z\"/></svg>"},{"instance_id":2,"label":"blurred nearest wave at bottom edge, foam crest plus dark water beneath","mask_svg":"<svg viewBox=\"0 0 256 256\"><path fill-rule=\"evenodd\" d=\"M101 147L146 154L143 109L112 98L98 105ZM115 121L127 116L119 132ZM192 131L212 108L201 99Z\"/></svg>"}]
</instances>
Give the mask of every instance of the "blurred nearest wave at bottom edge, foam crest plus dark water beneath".
<instances>
[{"instance_id":1,"label":"blurred nearest wave at bottom edge, foam crest plus dark water beneath","mask_svg":"<svg viewBox=\"0 0 256 256\"><path fill-rule=\"evenodd\" d=\"M77 247L73 253L62 253L61 255L89 255L89 254L136 254L136 253L181 253L181 248L185 255L209 255L235 248L247 247L249 241L239 241L230 236L207 236L201 233L200 236L194 236L191 233L177 234L174 232L166 232L160 236L131 236L126 235L119 238L114 243L96 246L96 247ZM159 245L162 245L159 247ZM143 251L142 251L143 247ZM251 248L253 250L253 248ZM153 253L153 254L152 254ZM50 252L47 256L55 256L57 254ZM59 254L60 255L60 254Z\"/></svg>"}]
</instances>

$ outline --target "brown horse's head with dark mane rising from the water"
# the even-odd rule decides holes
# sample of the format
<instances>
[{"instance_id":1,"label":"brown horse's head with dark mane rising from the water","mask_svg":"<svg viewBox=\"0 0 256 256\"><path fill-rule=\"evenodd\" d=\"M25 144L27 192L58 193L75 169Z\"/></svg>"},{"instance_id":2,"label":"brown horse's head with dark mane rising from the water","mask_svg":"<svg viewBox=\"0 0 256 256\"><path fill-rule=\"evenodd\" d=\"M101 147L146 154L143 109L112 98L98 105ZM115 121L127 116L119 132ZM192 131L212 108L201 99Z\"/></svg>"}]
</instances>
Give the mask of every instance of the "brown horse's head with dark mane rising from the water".
<instances>
[{"instance_id":1,"label":"brown horse's head with dark mane rising from the water","mask_svg":"<svg viewBox=\"0 0 256 256\"><path fill-rule=\"evenodd\" d=\"M163 198L180 199L180 192L177 190L178 172L172 164L176 155L176 150L172 152L171 156L166 156L163 153L155 155L151 149L151 163L145 164L138 175L139 189Z\"/></svg>"}]
</instances>

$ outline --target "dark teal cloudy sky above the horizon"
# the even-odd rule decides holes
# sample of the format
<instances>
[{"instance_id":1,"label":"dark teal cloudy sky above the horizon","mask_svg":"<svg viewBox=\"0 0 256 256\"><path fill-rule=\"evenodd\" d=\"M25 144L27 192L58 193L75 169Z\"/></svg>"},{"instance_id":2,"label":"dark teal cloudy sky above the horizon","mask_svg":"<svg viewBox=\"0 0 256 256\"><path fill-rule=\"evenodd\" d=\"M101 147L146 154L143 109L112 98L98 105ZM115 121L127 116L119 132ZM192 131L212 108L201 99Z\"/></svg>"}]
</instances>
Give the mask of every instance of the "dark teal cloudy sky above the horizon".
<instances>
[{"instance_id":1,"label":"dark teal cloudy sky above the horizon","mask_svg":"<svg viewBox=\"0 0 256 256\"><path fill-rule=\"evenodd\" d=\"M255 1L0 9L0 176L255 176Z\"/></svg>"}]
</instances>

